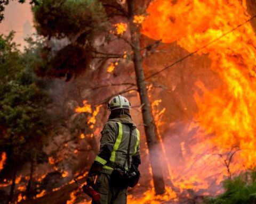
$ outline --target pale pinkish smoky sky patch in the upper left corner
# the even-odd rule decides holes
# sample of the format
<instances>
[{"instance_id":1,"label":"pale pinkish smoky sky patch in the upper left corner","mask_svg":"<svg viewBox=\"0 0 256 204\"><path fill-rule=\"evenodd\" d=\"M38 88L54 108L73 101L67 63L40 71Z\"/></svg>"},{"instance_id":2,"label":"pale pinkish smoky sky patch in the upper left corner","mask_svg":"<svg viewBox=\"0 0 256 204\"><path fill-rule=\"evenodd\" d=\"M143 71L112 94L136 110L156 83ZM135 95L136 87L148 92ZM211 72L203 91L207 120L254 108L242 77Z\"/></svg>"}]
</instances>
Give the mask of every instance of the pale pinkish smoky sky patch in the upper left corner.
<instances>
[{"instance_id":1,"label":"pale pinkish smoky sky patch in the upper left corner","mask_svg":"<svg viewBox=\"0 0 256 204\"><path fill-rule=\"evenodd\" d=\"M33 15L28 1L24 4L10 1L5 7L4 20L0 23L0 33L7 35L11 30L16 32L14 41L21 45L22 50L26 45L24 38L35 33Z\"/></svg>"}]
</instances>

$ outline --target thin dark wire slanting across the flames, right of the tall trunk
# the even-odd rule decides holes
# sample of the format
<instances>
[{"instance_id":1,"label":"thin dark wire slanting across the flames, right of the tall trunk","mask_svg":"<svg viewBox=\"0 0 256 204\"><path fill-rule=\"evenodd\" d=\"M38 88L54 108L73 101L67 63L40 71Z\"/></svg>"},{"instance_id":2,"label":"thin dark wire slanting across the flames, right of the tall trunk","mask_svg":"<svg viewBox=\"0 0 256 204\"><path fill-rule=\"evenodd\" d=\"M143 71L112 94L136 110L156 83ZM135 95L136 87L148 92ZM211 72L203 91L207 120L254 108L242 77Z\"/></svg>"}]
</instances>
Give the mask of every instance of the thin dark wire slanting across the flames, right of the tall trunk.
<instances>
[{"instance_id":1,"label":"thin dark wire slanting across the flames, right of the tall trunk","mask_svg":"<svg viewBox=\"0 0 256 204\"><path fill-rule=\"evenodd\" d=\"M204 46L202 46L202 47L196 49L194 52L189 53L188 55L186 55L186 56L180 58L178 61L175 61L174 63L172 63L172 64L170 64L170 65L168 65L168 66L165 66L162 70L159 70L159 71L157 71L157 72L155 72L155 73L149 75L148 77L146 77L145 79L141 80L140 82L145 81L145 80L147 80L147 79L150 79L150 78L152 78L152 77L155 77L155 75L157 75L157 74L163 72L164 70L167 70L167 69L171 68L171 67L174 66L175 64L180 63L181 61L185 60L186 58L188 58L188 57L190 57L190 56L196 54L196 53L197 53L198 51L200 51L201 49L206 48L207 46L209 46L209 45L215 43L215 42L218 41L219 39L225 37L225 36L228 35L229 33L235 31L236 29L238 29L239 27L241 27L241 26L244 25L245 23L252 21L254 18L256 18L256 15L252 16L252 18L246 20L245 22L243 22L243 23L237 25L235 28L229 30L228 32L223 33L221 36L219 36L218 38L215 38L214 40L210 41L209 43L205 44Z\"/></svg>"}]
</instances>

